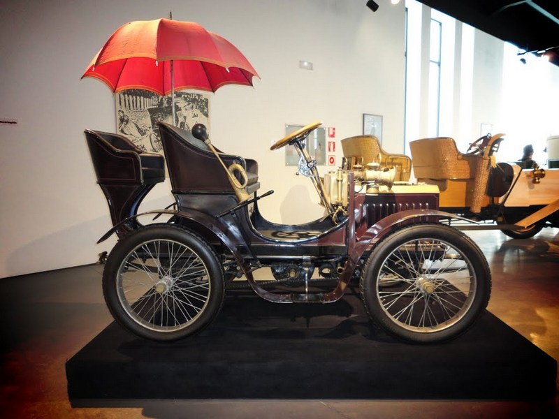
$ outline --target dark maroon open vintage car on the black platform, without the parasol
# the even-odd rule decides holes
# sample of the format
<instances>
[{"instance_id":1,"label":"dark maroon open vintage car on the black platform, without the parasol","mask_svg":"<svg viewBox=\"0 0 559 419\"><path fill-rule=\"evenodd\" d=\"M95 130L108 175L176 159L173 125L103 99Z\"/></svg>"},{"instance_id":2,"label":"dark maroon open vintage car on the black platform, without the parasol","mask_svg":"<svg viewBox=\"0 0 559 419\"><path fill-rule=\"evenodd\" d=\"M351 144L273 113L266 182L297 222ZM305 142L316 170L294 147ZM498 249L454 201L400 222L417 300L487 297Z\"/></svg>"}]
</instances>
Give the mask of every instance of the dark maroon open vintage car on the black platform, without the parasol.
<instances>
[{"instance_id":1,"label":"dark maroon open vintage car on the black platform, without the parasol","mask_svg":"<svg viewBox=\"0 0 559 419\"><path fill-rule=\"evenodd\" d=\"M119 238L103 273L116 321L139 337L173 341L210 325L231 288L322 304L355 281L370 319L405 341L445 341L470 328L488 304L491 272L479 247L448 225L456 215L438 210L438 186L407 184L396 170L402 156L391 156L391 167L344 161L319 177L305 140L320 125L271 147L297 149L298 173L324 205L321 219L296 226L262 216L259 200L273 191L259 195L258 163L217 150L201 124L190 132L159 122L165 158L86 130L113 224L99 242ZM165 166L174 207L138 214ZM270 277L255 279L256 270Z\"/></svg>"}]
</instances>

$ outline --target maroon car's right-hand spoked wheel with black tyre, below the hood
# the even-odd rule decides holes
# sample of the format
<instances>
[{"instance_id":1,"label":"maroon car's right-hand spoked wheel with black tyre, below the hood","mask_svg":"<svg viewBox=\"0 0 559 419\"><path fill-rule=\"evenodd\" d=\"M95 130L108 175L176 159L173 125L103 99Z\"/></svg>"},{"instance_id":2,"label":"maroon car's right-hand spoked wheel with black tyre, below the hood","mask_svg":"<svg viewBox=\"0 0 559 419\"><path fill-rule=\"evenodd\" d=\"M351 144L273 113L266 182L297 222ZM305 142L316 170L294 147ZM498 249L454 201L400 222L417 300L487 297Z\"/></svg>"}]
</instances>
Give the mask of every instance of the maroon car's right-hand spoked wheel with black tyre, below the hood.
<instances>
[{"instance_id":1,"label":"maroon car's right-hand spoked wheel with black tyre, below the hood","mask_svg":"<svg viewBox=\"0 0 559 419\"><path fill-rule=\"evenodd\" d=\"M396 231L370 254L361 295L372 321L401 339L432 343L465 332L487 306L491 273L472 240L441 224Z\"/></svg>"}]
</instances>

